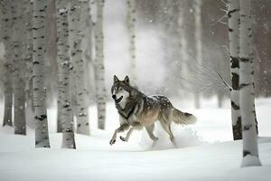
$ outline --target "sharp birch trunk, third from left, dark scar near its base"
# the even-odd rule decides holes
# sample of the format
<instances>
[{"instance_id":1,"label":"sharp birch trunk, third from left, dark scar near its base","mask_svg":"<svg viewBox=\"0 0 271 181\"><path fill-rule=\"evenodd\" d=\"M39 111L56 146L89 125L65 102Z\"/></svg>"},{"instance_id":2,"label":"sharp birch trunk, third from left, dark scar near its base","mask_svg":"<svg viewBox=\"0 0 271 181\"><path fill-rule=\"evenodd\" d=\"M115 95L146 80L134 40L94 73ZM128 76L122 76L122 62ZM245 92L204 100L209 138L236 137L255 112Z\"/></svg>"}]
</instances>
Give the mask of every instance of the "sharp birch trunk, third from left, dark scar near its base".
<instances>
[{"instance_id":1,"label":"sharp birch trunk, third from left, dark scar near its base","mask_svg":"<svg viewBox=\"0 0 271 181\"><path fill-rule=\"evenodd\" d=\"M33 104L36 148L50 148L44 86L46 0L33 1Z\"/></svg>"}]
</instances>

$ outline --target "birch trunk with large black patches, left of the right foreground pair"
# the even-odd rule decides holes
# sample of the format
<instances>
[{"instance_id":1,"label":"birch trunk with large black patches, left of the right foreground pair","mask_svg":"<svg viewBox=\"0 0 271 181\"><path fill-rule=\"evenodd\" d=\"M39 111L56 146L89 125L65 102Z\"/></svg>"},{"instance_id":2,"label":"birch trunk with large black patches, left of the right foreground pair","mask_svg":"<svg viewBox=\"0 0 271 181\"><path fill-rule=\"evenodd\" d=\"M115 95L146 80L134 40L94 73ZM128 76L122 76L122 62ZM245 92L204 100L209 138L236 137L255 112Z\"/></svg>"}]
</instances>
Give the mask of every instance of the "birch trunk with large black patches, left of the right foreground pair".
<instances>
[{"instance_id":1,"label":"birch trunk with large black patches, left of the right foreground pair","mask_svg":"<svg viewBox=\"0 0 271 181\"><path fill-rule=\"evenodd\" d=\"M239 105L239 1L229 0L229 57L231 87L231 122L233 139L242 139L242 124Z\"/></svg>"}]
</instances>

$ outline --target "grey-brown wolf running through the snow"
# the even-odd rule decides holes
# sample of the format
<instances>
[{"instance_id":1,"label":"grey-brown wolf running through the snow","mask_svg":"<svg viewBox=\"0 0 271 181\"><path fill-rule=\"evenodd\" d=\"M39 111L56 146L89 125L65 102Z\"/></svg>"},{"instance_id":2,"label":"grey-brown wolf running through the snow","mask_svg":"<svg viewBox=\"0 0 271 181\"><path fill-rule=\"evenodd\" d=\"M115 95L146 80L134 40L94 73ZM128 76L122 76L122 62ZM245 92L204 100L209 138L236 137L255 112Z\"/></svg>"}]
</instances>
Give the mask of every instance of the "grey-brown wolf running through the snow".
<instances>
[{"instance_id":1,"label":"grey-brown wolf running through the snow","mask_svg":"<svg viewBox=\"0 0 271 181\"><path fill-rule=\"evenodd\" d=\"M171 123L187 125L196 122L195 116L175 109L170 100L163 95L146 96L143 92L131 86L128 76L124 81L119 81L117 76L114 75L111 93L119 114L120 126L115 130L109 141L110 145L116 143L117 133L127 129L126 137L120 136L122 141L128 141L134 129L143 128L154 142L157 141L158 138L154 136L154 122L158 120L164 131L169 135L173 145L176 146Z\"/></svg>"}]
</instances>

